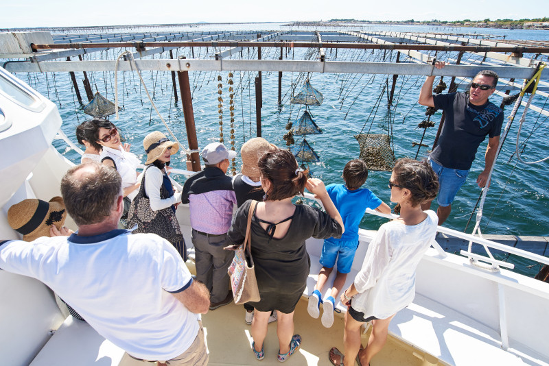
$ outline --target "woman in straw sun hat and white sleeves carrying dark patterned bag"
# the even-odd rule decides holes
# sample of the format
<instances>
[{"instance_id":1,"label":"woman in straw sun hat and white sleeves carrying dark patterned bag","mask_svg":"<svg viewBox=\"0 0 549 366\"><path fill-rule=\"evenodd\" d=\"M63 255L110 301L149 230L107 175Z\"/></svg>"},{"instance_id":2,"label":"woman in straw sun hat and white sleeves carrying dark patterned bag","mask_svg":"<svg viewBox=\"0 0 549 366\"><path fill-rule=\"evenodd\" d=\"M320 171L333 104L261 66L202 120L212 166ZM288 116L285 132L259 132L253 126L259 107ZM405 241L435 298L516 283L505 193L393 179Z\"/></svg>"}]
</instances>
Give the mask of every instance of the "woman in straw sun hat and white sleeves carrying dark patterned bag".
<instances>
[{"instance_id":1,"label":"woman in straw sun hat and white sleeves carrying dark patterned bag","mask_svg":"<svg viewBox=\"0 0 549 366\"><path fill-rule=\"evenodd\" d=\"M179 147L159 131L145 136L143 147L147 154L146 167L141 187L128 212L128 228L137 224L135 233L152 232L162 236L176 247L183 260L187 260L185 240L176 218L182 187L171 180L166 171Z\"/></svg>"}]
</instances>

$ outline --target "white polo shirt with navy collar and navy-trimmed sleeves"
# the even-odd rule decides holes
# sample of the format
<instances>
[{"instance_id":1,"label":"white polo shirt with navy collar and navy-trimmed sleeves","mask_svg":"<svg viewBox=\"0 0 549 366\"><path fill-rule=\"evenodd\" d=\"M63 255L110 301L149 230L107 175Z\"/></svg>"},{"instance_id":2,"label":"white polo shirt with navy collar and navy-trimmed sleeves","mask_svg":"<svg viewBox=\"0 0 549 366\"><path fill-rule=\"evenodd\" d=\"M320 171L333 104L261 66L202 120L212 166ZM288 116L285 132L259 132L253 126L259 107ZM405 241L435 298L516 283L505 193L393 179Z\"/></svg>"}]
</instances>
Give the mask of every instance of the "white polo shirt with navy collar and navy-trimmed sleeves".
<instances>
[{"instance_id":1,"label":"white polo shirt with navy collar and navy-trimmed sleeves","mask_svg":"<svg viewBox=\"0 0 549 366\"><path fill-rule=\"evenodd\" d=\"M156 234L117 229L8 241L0 244L0 269L44 282L99 334L137 358L169 360L198 334L200 315L172 295L192 284L191 273L174 246Z\"/></svg>"}]
</instances>

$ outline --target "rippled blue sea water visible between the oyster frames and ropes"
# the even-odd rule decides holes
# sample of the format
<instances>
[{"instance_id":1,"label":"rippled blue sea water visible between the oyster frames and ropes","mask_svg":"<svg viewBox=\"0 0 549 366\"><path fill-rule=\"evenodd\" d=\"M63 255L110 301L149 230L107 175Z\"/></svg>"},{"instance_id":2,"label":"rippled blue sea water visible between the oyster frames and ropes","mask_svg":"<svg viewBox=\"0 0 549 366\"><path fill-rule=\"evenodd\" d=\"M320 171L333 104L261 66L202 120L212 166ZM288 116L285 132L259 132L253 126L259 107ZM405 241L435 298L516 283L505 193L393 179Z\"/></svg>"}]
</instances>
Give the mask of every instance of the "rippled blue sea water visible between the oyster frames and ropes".
<instances>
[{"instance_id":1,"label":"rippled blue sea water visible between the oyster frames and ropes","mask_svg":"<svg viewBox=\"0 0 549 366\"><path fill-rule=\"evenodd\" d=\"M199 28L185 30L279 30L289 29L277 24L250 24L250 25L202 25ZM294 28L296 29L296 28ZM304 29L304 28L300 28ZM510 29L474 29L454 28L433 29L428 26L389 26L375 25L367 27L369 30L391 30L395 32L459 32L467 34L493 34L495 36L506 36L506 39L529 39L549 40L549 32L532 30L510 30ZM132 32L169 29L146 29L135 28ZM119 29L118 32L128 32L128 29ZM87 54L86 60L115 60L122 50L116 49ZM209 58L213 49L198 51L195 49L195 56L198 58ZM200 53L201 52L201 53ZM250 56L256 57L254 50L249 50ZM248 57L248 50L244 50ZM187 56L191 58L190 50L175 51L174 56ZM316 60L318 53L311 49L288 49L284 56L290 60ZM279 49L262 49L261 58L277 59ZM327 50L329 60L338 61L381 61L395 60L396 53L386 51L359 51L359 50ZM455 54L439 53L439 60L448 57L455 58ZM477 56L474 56L477 57ZM169 53L155 55L153 58L169 58ZM464 58L465 60L465 58ZM470 58L473 60L473 58ZM401 58L402 61L402 58ZM410 62L410 60L406 60ZM163 118L169 121L179 140L187 145L187 134L183 120L183 110L180 101L174 102L172 79L170 73L161 71L145 71L142 73L147 87L154 95L154 103L159 108ZM198 134L198 145L200 149L213 141L219 139L219 114L218 114L218 76L222 77L222 98L223 105L223 133L225 145L229 144L229 84L228 73L223 72L190 72L189 78L194 105L194 117L196 132ZM17 75L40 93L54 101L62 116L64 125L62 130L75 141L75 126L89 118L80 108L76 101L68 73L29 74L19 73ZM255 91L253 80L257 73L235 72L233 76L233 87L235 88L235 149L240 151L242 144L250 137L254 137L255 131ZM419 143L423 129L417 128L418 123L425 119L425 108L417 104L419 88L425 77L400 76L397 79L395 100L393 106L388 109L386 83L390 86L392 75L350 75L350 74L309 74L284 73L282 80L283 105L279 108L277 104L278 73L263 73L263 108L261 110L263 136L268 141L285 147L282 137L287 132L285 125L288 121L295 122L303 114L303 107L290 103L294 93L299 91L306 77L309 77L314 88L323 93L324 102L321 106L310 107L316 124L323 130L323 134L309 135L307 142L320 156L320 162L310 164L314 176L324 180L325 184L341 183L342 168L344 164L359 155L359 145L353 135L360 132L371 132L375 134L389 134L393 138L394 154L396 158L411 157L417 154L417 147L412 143ZM80 90L84 95L81 80L82 73L76 73ZM114 96L114 73L88 73L94 91L110 99ZM148 101L145 90L139 83L137 75L120 72L119 80L119 101L124 110L120 113L119 121L113 122L121 127L126 140L132 144L132 151L145 160L143 151L143 137L154 130L165 132L156 112ZM438 80L437 80L438 82ZM445 80L449 84L449 80ZM295 90L295 91L294 91ZM461 88L463 90L463 88ZM492 99L499 105L501 97L493 96ZM545 106L546 97L537 96L535 105ZM388 113L390 111L390 113ZM509 115L511 107L506 107L505 114ZM549 235L549 191L546 184L547 169L549 162L540 164L525 165L517 162L514 155L517 139L519 114L511 127L504 149L496 162L495 172L491 188L484 204L484 217L481 223L481 230L484 234L519 234L519 235ZM428 148L422 147L419 151L419 158L425 157L427 150L432 146L436 128L439 125L441 113L437 112L432 120L436 127L429 128L423 138L423 143ZM506 122L506 121L505 121ZM504 123L505 123L504 122ZM296 142L301 137L295 137ZM526 141L522 158L527 161L539 160L549 156L548 148L548 122L547 118L536 112L528 112L526 122L522 129L520 142ZM65 154L69 160L79 162L80 157L67 148L65 143L56 141L56 147ZM476 186L476 177L484 167L484 150L486 143L482 144L476 161L469 173L469 179L461 188L456 201L452 205L452 215L445 225L455 230L464 231L467 221L474 212L477 199L481 193ZM173 167L185 168L185 157L178 155L174 159ZM236 167L240 171L240 157L237 158ZM366 186L370 188L379 198L389 204L388 178L390 173L371 171ZM184 178L180 178L181 181ZM436 210L436 204L433 207ZM471 219L467 232L474 228L476 215ZM362 228L375 230L384 220L375 217L365 217L361 223ZM524 271L530 275L539 267L526 269L529 263L517 264L517 267L524 267ZM522 271L519 269L519 271Z\"/></svg>"}]
</instances>

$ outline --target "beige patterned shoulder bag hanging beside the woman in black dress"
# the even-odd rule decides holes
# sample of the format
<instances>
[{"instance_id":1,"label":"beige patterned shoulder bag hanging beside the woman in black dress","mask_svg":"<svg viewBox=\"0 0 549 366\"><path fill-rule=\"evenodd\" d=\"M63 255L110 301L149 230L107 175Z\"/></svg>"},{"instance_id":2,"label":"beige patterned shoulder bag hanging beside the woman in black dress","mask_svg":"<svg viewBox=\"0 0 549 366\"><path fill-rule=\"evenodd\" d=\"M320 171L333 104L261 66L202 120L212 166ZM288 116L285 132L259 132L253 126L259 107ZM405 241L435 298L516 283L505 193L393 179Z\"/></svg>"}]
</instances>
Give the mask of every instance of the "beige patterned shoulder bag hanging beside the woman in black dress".
<instances>
[{"instance_id":1,"label":"beige patterned shoulder bag hanging beside the woman in black dress","mask_svg":"<svg viewBox=\"0 0 549 366\"><path fill-rule=\"evenodd\" d=\"M231 276L231 289L233 289L233 298L235 304L244 304L246 302L258 302L259 289L257 289L257 280L255 279L255 269L253 258L250 252L252 225L252 216L257 201L252 201L250 211L248 212L248 225L246 226L246 237L244 244L235 250L235 258L229 266L229 276Z\"/></svg>"}]
</instances>

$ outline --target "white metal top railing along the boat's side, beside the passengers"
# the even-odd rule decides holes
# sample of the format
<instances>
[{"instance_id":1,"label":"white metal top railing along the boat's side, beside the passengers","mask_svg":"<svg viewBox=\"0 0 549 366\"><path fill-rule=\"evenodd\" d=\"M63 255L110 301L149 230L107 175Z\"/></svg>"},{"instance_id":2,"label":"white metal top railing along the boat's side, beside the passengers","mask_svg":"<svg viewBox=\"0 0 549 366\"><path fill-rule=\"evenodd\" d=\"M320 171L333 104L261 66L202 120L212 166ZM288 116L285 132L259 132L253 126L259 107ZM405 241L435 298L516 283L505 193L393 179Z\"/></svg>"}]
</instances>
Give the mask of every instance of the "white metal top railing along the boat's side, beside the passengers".
<instances>
[{"instance_id":1,"label":"white metal top railing along the boat's side, beside the passengers","mask_svg":"<svg viewBox=\"0 0 549 366\"><path fill-rule=\"evenodd\" d=\"M84 154L84 151L82 151L82 149L80 149L78 146L76 146L67 137L67 135L65 135L61 130L59 130L58 136L56 136L56 138L60 138L61 140L65 141L65 143L67 143L67 145L69 145L69 147L71 147L71 149L78 152L78 154L80 154L80 155ZM139 167L141 169L144 168L143 165L140 165ZM188 171L188 170L185 170L185 169L170 169L170 174L185 175L187 178L190 177L191 175L194 175L195 173L196 173L195 171ZM311 193L305 193L305 195L303 195L303 197L305 197L307 199L313 199L314 201L318 202L318 204L320 204L320 206L323 206L322 202L320 202L320 200L314 198L314 195L312 195ZM369 214L369 215L376 215L376 216L380 216L380 217L385 217L386 219L396 219L398 217L395 214L384 214L382 212L377 212L376 210L371 210L370 208L366 208L366 213ZM474 236L474 235L471 235L471 234L467 234L466 232L458 232L457 230L445 228L443 226L437 226L436 231L441 232L443 234L447 234L449 236L454 236L454 237L459 238L459 239L464 239L466 241L471 241L473 243L478 243L478 244L484 245L486 247L490 247L490 248L493 248L493 249L498 249L501 252L506 252L506 253L509 253L509 254L513 254L515 256L520 256L522 258L527 258L527 259L530 259L530 260L534 260L535 262L538 262L538 263L544 263L545 265L549 265L549 258L548 257L540 256L539 254L530 253L530 252L527 252L526 250L518 249L518 248L515 248L515 247L511 247L509 245L504 245L504 244L501 244L501 243L497 243L495 241L484 239L484 238L481 238L480 236ZM444 251L444 249L441 247L441 245L439 245L439 243L437 243L436 241L433 240L433 242L431 243L431 246L434 247L434 249L436 249L436 251L439 253L440 258L445 258L447 256L447 253ZM513 269L515 267L511 263L506 263L506 262L503 262L502 260L496 260L496 259L493 259L493 258L489 258L487 256L480 256L478 254L474 254L474 253L471 253L471 252L466 252L465 250L461 250L460 254L463 255L463 256L469 257L469 259L471 259L471 260L482 260L483 262L488 263L489 265L491 265L492 269L498 269L498 266L506 267L506 268L509 268L509 269Z\"/></svg>"}]
</instances>

